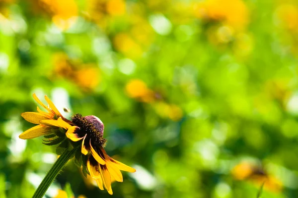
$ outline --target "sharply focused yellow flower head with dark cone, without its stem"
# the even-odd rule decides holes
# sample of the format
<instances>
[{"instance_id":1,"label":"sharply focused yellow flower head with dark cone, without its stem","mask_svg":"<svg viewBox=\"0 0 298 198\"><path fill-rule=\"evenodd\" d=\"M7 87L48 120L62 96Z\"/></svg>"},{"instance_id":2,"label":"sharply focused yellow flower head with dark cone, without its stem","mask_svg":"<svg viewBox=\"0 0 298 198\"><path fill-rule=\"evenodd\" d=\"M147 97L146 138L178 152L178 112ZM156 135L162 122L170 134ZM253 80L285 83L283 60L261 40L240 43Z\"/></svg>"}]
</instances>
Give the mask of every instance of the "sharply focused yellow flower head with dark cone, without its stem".
<instances>
[{"instance_id":1,"label":"sharply focused yellow flower head with dark cone, without its stem","mask_svg":"<svg viewBox=\"0 0 298 198\"><path fill-rule=\"evenodd\" d=\"M25 112L21 116L28 122L38 124L23 132L19 138L32 139L44 136L46 145L56 145L61 148L80 147L75 154L76 164L83 166L83 173L89 174L95 179L99 189L113 194L112 181L122 182L123 177L120 170L135 172L129 167L107 155L104 150L106 139L103 138L104 125L102 121L94 115L82 116L74 114L71 120L61 115L54 103L45 96L48 106L43 104L34 94L33 98L43 106L48 112L44 112L37 107L38 112ZM70 144L65 144L70 143ZM57 149L56 149L57 151ZM81 159L81 160L80 160ZM85 172L84 172L85 171Z\"/></svg>"}]
</instances>

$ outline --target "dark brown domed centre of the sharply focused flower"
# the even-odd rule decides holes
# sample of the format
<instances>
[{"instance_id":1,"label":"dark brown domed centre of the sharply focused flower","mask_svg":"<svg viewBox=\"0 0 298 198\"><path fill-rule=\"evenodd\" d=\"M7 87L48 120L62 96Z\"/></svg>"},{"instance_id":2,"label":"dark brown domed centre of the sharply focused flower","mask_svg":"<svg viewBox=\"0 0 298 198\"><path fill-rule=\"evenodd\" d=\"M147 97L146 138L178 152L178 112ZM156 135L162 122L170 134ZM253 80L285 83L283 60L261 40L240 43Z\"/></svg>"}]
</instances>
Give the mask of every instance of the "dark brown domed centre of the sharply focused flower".
<instances>
[{"instance_id":1,"label":"dark brown domed centre of the sharply focused flower","mask_svg":"<svg viewBox=\"0 0 298 198\"><path fill-rule=\"evenodd\" d=\"M104 125L98 117L94 115L83 117L81 114L74 114L72 122L80 128L77 133L79 137L84 137L87 134L84 142L85 147L89 148L90 140L92 146L105 146L106 139L103 138Z\"/></svg>"}]
</instances>

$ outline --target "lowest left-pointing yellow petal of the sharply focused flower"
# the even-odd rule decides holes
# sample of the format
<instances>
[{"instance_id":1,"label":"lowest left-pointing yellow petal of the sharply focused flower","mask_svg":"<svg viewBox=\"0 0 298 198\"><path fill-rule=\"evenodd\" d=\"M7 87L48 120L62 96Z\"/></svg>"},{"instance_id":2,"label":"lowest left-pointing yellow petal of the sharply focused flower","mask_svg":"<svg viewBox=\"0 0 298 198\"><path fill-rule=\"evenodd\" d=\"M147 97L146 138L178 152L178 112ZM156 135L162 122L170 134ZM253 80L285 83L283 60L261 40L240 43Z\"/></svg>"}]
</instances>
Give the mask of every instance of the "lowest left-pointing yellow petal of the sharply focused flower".
<instances>
[{"instance_id":1,"label":"lowest left-pointing yellow petal of the sharply focused flower","mask_svg":"<svg viewBox=\"0 0 298 198\"><path fill-rule=\"evenodd\" d=\"M24 140L37 138L39 136L44 136L46 134L52 133L51 130L52 130L52 127L44 126L40 124L23 132L21 135L19 135L19 138Z\"/></svg>"}]
</instances>

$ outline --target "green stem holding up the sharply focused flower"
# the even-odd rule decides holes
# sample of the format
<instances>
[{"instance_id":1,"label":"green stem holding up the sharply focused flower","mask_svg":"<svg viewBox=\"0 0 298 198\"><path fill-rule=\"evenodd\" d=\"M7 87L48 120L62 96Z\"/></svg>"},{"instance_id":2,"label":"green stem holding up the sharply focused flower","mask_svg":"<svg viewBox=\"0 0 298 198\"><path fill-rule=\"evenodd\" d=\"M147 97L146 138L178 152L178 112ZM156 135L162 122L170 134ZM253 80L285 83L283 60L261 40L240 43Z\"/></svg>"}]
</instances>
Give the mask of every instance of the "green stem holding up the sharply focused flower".
<instances>
[{"instance_id":1,"label":"green stem holding up the sharply focused flower","mask_svg":"<svg viewBox=\"0 0 298 198\"><path fill-rule=\"evenodd\" d=\"M46 177L42 180L38 188L36 189L34 195L32 198L42 198L54 179L57 177L59 172L62 170L64 165L74 156L75 151L78 148L74 148L72 150L65 150L62 155L56 160L56 162L53 164L52 168L47 173Z\"/></svg>"}]
</instances>

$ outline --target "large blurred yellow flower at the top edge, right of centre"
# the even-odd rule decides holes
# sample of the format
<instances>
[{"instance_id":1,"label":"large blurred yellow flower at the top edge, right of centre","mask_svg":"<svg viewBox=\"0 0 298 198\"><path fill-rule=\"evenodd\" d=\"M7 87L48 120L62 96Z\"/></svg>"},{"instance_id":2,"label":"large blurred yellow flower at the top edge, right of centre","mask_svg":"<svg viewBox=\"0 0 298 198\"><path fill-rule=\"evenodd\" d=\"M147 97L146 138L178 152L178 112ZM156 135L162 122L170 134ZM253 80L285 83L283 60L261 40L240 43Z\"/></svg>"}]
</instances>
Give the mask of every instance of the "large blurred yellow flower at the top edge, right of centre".
<instances>
[{"instance_id":1,"label":"large blurred yellow flower at the top edge, right of centre","mask_svg":"<svg viewBox=\"0 0 298 198\"><path fill-rule=\"evenodd\" d=\"M195 17L211 24L207 28L207 36L212 44L219 46L233 42L239 55L247 55L251 51L251 40L239 36L243 35L249 22L249 10L243 0L204 0L193 7ZM238 52L239 48L245 49L244 52Z\"/></svg>"}]
</instances>

